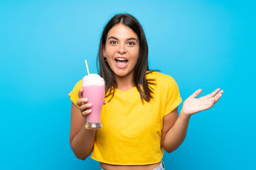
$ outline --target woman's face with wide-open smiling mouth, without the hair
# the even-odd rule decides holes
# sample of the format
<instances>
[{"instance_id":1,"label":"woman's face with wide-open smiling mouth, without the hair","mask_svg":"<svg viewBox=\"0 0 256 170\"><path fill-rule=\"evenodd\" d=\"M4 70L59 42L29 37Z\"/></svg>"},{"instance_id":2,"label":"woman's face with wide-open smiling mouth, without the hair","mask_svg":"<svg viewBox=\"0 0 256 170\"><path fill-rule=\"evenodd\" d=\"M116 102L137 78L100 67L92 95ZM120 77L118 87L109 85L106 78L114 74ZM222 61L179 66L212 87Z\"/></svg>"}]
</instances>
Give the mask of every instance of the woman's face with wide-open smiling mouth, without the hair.
<instances>
[{"instance_id":1,"label":"woman's face with wide-open smiling mouth, without the hair","mask_svg":"<svg viewBox=\"0 0 256 170\"><path fill-rule=\"evenodd\" d=\"M131 28L119 23L107 33L103 55L116 77L133 75L139 58L139 38Z\"/></svg>"}]
</instances>

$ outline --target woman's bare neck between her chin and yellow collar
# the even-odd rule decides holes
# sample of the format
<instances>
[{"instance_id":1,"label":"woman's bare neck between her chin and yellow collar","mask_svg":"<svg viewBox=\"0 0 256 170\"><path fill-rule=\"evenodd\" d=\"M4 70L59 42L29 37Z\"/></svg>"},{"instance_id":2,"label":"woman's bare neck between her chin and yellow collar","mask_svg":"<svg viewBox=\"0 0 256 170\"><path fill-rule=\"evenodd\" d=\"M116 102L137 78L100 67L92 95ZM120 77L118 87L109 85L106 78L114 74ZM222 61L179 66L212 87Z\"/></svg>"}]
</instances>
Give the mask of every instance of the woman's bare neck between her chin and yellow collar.
<instances>
[{"instance_id":1,"label":"woman's bare neck between her chin and yellow collar","mask_svg":"<svg viewBox=\"0 0 256 170\"><path fill-rule=\"evenodd\" d=\"M134 86L135 86L133 74L129 74L125 77L118 77L116 75L114 78L117 82L117 89L119 89L119 90L127 91L129 89L134 88Z\"/></svg>"}]
</instances>

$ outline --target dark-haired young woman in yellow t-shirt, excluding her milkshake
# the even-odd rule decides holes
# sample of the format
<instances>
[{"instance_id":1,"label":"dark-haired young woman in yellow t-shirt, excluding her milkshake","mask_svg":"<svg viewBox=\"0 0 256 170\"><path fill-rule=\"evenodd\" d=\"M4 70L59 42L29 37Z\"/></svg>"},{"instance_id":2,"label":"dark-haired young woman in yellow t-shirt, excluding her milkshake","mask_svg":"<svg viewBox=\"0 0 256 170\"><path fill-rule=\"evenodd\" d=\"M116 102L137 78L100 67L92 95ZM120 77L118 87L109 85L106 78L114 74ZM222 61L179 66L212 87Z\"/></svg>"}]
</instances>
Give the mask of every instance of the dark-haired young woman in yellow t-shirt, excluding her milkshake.
<instances>
[{"instance_id":1,"label":"dark-haired young woman in yellow t-shirt, excluding her milkshake","mask_svg":"<svg viewBox=\"0 0 256 170\"><path fill-rule=\"evenodd\" d=\"M98 52L100 76L106 96L101 115L103 128L85 129L90 114L82 98L82 81L69 96L71 105L70 146L79 159L100 162L102 169L164 169L163 149L173 152L186 137L191 115L211 108L222 96L196 98L201 89L183 102L174 79L149 71L144 30L129 14L114 16L105 26Z\"/></svg>"}]
</instances>

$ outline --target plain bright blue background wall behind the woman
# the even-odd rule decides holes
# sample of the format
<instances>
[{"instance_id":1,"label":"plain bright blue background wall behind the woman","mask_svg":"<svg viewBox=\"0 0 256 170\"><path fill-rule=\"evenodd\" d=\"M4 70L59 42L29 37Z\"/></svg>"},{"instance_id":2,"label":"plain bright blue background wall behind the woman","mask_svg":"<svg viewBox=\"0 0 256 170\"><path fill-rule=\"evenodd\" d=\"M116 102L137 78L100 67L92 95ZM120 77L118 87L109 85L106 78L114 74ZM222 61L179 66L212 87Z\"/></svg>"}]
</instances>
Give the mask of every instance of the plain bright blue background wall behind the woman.
<instances>
[{"instance_id":1,"label":"plain bright blue background wall behind the woman","mask_svg":"<svg viewBox=\"0 0 256 170\"><path fill-rule=\"evenodd\" d=\"M142 23L150 68L174 77L183 100L225 91L193 115L166 169L255 169L254 11L254 1L0 1L0 169L100 169L70 149L68 93L85 59L97 73L102 29L123 12Z\"/></svg>"}]
</instances>

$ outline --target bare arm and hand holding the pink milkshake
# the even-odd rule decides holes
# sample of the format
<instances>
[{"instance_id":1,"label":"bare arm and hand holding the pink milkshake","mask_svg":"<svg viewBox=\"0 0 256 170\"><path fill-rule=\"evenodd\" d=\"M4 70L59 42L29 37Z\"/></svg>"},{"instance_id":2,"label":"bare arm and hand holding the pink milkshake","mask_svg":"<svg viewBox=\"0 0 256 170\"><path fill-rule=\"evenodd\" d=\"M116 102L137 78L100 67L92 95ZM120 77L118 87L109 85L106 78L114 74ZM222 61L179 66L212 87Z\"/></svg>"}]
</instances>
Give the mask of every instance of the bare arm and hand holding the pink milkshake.
<instances>
[{"instance_id":1,"label":"bare arm and hand holding the pink milkshake","mask_svg":"<svg viewBox=\"0 0 256 170\"><path fill-rule=\"evenodd\" d=\"M90 113L90 104L85 103L87 98L81 98L82 89L78 96L80 99L76 103L80 108L74 103L71 104L70 146L75 157L85 160L92 152L96 130L85 129L86 115Z\"/></svg>"}]
</instances>

